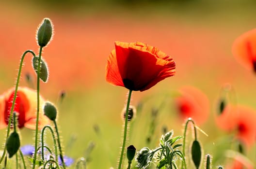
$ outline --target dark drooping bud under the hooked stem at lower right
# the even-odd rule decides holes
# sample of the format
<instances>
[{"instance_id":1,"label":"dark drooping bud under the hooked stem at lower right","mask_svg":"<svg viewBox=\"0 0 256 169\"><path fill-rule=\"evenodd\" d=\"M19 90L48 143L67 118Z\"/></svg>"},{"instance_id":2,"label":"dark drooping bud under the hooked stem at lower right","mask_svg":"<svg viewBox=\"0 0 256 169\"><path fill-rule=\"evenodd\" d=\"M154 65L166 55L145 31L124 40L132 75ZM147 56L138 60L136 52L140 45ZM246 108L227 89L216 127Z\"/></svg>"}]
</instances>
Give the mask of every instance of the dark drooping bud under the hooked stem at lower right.
<instances>
[{"instance_id":1,"label":"dark drooping bud under the hooked stem at lower right","mask_svg":"<svg viewBox=\"0 0 256 169\"><path fill-rule=\"evenodd\" d=\"M196 169L199 169L200 163L201 163L201 146L199 141L194 140L191 147L191 154L192 154L192 161L196 167Z\"/></svg>"}]
</instances>

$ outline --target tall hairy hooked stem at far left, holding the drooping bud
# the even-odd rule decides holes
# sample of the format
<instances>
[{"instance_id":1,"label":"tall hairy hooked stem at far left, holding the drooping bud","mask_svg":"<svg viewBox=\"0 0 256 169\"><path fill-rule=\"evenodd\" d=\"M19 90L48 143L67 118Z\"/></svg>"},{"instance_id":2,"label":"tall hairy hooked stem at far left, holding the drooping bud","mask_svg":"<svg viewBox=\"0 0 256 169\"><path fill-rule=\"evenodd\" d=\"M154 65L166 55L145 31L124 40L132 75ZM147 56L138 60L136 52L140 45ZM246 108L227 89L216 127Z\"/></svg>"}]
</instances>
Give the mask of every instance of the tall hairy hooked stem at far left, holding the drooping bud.
<instances>
[{"instance_id":1,"label":"tall hairy hooked stem at far left, holding the drooping bud","mask_svg":"<svg viewBox=\"0 0 256 169\"><path fill-rule=\"evenodd\" d=\"M19 79L20 79L20 74L21 74L21 69L22 69L22 65L23 65L23 60L24 57L26 56L27 53L31 53L34 57L35 54L32 50L27 50L23 53L23 55L21 56L21 60L20 60L20 64L19 64L19 70L18 70L18 76L17 76L17 80L16 80L16 86L15 86L15 93L14 93L14 98L13 98L13 104L12 104L12 108L11 108L11 112L10 112L10 117L9 117L9 123L8 123L8 127L7 127L7 134L6 134L6 140L9 137L10 134L10 128L11 128L11 122L12 122L12 115L13 115L13 111L14 111L14 106L15 106L15 101L16 101L16 96L17 96L17 90L18 90L18 85L19 85ZM3 154L0 158L0 164L4 158L6 154L6 143L4 145L4 150L3 150Z\"/></svg>"}]
</instances>

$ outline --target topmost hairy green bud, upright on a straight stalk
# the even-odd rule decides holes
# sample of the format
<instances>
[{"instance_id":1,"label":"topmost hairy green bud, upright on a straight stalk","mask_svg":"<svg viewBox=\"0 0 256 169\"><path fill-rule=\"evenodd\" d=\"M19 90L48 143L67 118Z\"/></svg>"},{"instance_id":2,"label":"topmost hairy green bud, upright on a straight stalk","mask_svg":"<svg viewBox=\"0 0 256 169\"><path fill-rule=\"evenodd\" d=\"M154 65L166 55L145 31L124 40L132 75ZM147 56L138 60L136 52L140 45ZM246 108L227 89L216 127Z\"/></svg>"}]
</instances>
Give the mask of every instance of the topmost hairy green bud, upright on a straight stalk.
<instances>
[{"instance_id":1,"label":"topmost hairy green bud, upright on a straight stalk","mask_svg":"<svg viewBox=\"0 0 256 169\"><path fill-rule=\"evenodd\" d=\"M51 40L52 24L49 18L44 18L37 30L37 43L41 47L45 47Z\"/></svg>"}]
</instances>

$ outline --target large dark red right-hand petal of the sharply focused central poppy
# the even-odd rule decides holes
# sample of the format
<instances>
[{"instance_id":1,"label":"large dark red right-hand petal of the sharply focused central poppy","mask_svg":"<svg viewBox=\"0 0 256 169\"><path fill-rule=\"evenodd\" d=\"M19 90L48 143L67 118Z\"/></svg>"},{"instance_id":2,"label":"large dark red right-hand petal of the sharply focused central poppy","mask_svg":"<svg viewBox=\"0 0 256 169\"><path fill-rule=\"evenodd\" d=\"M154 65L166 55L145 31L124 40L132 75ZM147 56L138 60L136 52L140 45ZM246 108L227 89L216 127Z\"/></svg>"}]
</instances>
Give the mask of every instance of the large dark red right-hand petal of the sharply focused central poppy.
<instances>
[{"instance_id":1,"label":"large dark red right-hand petal of the sharply focused central poppy","mask_svg":"<svg viewBox=\"0 0 256 169\"><path fill-rule=\"evenodd\" d=\"M133 83L132 90L147 90L175 74L175 62L155 47L141 42L115 42L115 49L121 78Z\"/></svg>"}]
</instances>

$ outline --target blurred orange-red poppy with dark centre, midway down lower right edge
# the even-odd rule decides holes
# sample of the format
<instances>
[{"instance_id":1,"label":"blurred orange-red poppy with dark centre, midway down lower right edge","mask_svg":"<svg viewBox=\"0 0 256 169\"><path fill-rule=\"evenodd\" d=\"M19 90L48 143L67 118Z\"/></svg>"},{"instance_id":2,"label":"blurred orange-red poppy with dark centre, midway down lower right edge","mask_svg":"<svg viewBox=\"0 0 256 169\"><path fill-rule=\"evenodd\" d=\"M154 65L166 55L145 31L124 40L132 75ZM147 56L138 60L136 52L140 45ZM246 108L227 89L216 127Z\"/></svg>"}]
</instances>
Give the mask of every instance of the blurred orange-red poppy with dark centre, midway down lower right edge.
<instances>
[{"instance_id":1,"label":"blurred orange-red poppy with dark centre, midway down lower right edge","mask_svg":"<svg viewBox=\"0 0 256 169\"><path fill-rule=\"evenodd\" d=\"M235 139L246 146L256 142L256 111L245 106L227 105L223 113L215 118L218 127L227 132L234 132Z\"/></svg>"}]
</instances>

